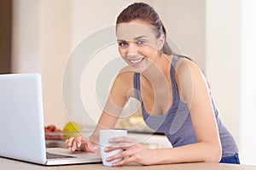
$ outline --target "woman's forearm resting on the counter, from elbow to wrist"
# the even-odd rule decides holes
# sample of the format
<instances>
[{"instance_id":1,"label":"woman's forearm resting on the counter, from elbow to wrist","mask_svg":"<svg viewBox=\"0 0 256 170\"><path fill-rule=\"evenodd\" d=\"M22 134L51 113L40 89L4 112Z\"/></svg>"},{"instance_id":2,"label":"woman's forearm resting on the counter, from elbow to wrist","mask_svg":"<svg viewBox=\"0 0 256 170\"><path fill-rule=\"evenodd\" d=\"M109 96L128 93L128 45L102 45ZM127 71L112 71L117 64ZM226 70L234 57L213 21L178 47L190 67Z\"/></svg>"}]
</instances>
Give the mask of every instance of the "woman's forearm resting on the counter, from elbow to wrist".
<instances>
[{"instance_id":1,"label":"woman's forearm resting on the counter, from elbow to wrist","mask_svg":"<svg viewBox=\"0 0 256 170\"><path fill-rule=\"evenodd\" d=\"M182 163L195 161L218 162L221 158L219 144L199 142L175 148L154 150L153 164Z\"/></svg>"}]
</instances>

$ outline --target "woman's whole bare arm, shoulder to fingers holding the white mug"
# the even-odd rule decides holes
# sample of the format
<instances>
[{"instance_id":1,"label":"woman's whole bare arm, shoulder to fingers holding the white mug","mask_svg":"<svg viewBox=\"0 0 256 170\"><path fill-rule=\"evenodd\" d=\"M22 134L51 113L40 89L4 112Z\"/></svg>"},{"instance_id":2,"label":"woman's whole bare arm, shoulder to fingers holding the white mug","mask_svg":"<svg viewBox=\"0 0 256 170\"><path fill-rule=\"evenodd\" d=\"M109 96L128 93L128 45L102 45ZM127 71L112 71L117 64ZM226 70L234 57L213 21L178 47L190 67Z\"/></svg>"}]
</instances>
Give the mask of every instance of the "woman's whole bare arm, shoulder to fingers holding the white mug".
<instances>
[{"instance_id":1,"label":"woman's whole bare arm, shoulder to fingers holding the white mug","mask_svg":"<svg viewBox=\"0 0 256 170\"><path fill-rule=\"evenodd\" d=\"M220 160L222 151L218 126L205 77L193 62L182 59L177 65L176 80L180 98L189 105L191 121L198 142L176 148L149 150L129 139L114 139L113 142L119 143L125 151L110 157L109 161L130 156L124 161L117 162L115 166L132 161L143 165L153 165L193 161L218 162ZM125 144L129 145L129 143L134 144L126 147ZM109 150L113 149L109 148Z\"/></svg>"}]
</instances>

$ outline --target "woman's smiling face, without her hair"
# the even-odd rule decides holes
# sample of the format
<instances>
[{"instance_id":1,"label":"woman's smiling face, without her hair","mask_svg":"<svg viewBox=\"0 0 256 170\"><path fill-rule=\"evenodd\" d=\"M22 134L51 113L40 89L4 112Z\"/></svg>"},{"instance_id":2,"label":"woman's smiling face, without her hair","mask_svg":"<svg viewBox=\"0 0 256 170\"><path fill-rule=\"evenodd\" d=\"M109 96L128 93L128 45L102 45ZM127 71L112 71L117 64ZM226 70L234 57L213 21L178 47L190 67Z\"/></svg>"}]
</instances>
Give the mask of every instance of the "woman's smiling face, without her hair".
<instances>
[{"instance_id":1,"label":"woman's smiling face, without her hair","mask_svg":"<svg viewBox=\"0 0 256 170\"><path fill-rule=\"evenodd\" d=\"M155 37L154 29L145 22L121 23L116 35L119 54L132 70L143 72L159 59L163 41Z\"/></svg>"}]
</instances>

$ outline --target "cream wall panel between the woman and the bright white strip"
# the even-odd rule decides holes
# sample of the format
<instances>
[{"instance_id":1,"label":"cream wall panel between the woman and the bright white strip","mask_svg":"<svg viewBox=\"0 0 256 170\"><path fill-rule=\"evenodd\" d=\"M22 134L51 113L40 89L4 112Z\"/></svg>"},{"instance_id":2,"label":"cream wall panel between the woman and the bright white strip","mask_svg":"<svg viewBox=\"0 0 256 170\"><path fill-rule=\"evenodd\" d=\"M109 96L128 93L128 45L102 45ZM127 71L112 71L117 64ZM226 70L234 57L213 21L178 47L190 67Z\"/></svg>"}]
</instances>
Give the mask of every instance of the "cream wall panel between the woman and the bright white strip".
<instances>
[{"instance_id":1,"label":"cream wall panel between the woman and the bright white strip","mask_svg":"<svg viewBox=\"0 0 256 170\"><path fill-rule=\"evenodd\" d=\"M240 144L241 0L208 0L206 8L206 75L219 115Z\"/></svg>"}]
</instances>

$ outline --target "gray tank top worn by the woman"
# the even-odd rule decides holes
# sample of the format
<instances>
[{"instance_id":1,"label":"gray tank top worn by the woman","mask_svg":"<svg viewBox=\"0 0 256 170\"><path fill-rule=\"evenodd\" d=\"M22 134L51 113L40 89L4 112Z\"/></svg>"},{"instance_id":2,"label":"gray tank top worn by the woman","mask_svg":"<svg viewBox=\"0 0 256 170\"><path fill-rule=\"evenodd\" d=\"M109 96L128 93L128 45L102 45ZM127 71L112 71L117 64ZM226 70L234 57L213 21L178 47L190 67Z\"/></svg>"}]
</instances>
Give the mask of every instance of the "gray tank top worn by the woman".
<instances>
[{"instance_id":1,"label":"gray tank top worn by the woman","mask_svg":"<svg viewBox=\"0 0 256 170\"><path fill-rule=\"evenodd\" d=\"M197 142L195 131L192 126L188 105L180 100L177 92L177 84L175 80L175 66L180 58L174 56L171 65L171 80L172 80L172 106L163 115L154 116L145 111L142 96L140 94L140 74L135 73L133 77L133 86L136 89L136 98L142 104L143 119L148 127L157 132L165 133L173 147L182 146L185 144L193 144ZM212 105L218 124L218 133L222 144L222 156L233 156L238 153L236 141L230 132L224 127L218 117L218 111L213 103Z\"/></svg>"}]
</instances>

